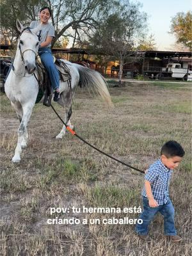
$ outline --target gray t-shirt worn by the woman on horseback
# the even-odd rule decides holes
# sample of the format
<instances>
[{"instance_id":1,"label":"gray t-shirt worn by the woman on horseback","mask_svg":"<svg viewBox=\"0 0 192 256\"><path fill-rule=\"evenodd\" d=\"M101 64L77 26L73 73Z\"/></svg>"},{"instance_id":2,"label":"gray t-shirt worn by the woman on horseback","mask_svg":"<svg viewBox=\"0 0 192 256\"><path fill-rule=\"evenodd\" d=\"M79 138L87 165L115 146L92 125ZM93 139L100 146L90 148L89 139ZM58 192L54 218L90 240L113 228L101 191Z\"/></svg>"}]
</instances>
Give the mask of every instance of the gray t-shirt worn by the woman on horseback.
<instances>
[{"instance_id":1,"label":"gray t-shirt worn by the woman on horseback","mask_svg":"<svg viewBox=\"0 0 192 256\"><path fill-rule=\"evenodd\" d=\"M40 30L41 32L41 36L40 36L40 44L42 42L45 42L45 40L47 39L47 36L52 36L54 37L54 26L52 26L51 24L47 23L47 24L41 24L39 20L33 20L31 21L30 24L30 28L36 28L40 25ZM39 31L36 33L36 35L39 35ZM47 45L47 47L50 47L51 44Z\"/></svg>"}]
</instances>

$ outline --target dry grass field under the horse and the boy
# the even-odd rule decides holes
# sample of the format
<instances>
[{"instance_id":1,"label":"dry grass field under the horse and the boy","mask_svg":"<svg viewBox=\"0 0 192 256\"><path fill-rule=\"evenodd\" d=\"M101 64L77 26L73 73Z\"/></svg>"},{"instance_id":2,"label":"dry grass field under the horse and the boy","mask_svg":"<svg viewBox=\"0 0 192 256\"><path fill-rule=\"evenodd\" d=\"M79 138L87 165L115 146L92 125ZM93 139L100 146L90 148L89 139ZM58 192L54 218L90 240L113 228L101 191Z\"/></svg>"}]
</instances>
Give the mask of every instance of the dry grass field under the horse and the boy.
<instances>
[{"instance_id":1,"label":"dry grass field under the horse and the boy","mask_svg":"<svg viewBox=\"0 0 192 256\"><path fill-rule=\"evenodd\" d=\"M184 147L186 156L170 185L182 242L166 240L160 215L150 227L153 243L147 245L134 233L134 225L102 223L113 217L138 218L138 213L83 212L83 206L139 207L143 174L68 133L55 140L62 124L51 108L36 104L28 125L28 148L20 164L13 164L19 120L1 94L2 255L191 255L191 84L126 83L122 88L110 87L109 92L113 109L78 88L72 124L95 147L141 170L157 159L164 142L176 140ZM54 106L62 116L60 106ZM67 212L60 212L61 207ZM51 208L58 212L51 214ZM74 218L80 223L47 224L48 219ZM88 223L83 224L83 219ZM96 219L100 224L89 223Z\"/></svg>"}]
</instances>

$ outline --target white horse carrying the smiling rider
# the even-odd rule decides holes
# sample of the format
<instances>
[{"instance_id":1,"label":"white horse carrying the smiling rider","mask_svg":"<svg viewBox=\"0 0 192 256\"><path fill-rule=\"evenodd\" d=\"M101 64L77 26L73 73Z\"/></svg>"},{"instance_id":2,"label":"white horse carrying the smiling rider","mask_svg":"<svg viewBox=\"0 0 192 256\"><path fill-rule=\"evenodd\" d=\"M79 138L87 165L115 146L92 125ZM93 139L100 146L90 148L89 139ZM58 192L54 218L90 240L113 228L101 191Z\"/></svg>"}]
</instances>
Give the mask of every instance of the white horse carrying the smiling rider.
<instances>
[{"instance_id":1,"label":"white horse carrying the smiling rider","mask_svg":"<svg viewBox=\"0 0 192 256\"><path fill-rule=\"evenodd\" d=\"M15 155L12 158L13 163L20 162L22 148L27 146L27 125L33 106L35 105L39 87L34 73L36 72L35 60L38 52L38 36L36 36L36 33L40 28L24 29L19 20L17 20L17 28L20 31L20 36L17 44L15 60L13 61L13 68L6 79L6 83L4 84L5 93L8 99L10 99L20 120L17 147L15 148ZM74 88L77 86L79 81L81 81L82 86L93 88L95 92L99 93L102 99L111 105L108 86L98 72L75 63L70 63L69 61L63 61L67 64L70 70L72 94L74 93ZM68 93L69 88L67 82L60 81L60 92L61 96L58 103L65 108L64 122L72 128L72 125L70 124L70 116L72 115L72 98L69 97L67 99L67 95L70 94ZM66 128L65 125L63 125L60 134L58 134L56 138L62 138L65 131Z\"/></svg>"}]
</instances>

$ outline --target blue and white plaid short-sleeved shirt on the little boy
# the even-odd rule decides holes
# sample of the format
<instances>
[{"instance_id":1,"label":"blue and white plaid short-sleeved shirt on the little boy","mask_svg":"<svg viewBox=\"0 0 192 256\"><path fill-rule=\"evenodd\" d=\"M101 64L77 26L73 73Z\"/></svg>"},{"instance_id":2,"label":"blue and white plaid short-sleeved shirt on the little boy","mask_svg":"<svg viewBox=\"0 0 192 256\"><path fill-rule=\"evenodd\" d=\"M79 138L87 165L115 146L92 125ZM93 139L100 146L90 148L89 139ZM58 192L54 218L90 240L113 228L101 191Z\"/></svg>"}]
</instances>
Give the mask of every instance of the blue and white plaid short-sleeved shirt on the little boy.
<instances>
[{"instance_id":1,"label":"blue and white plaid short-sleeved shirt on the little boy","mask_svg":"<svg viewBox=\"0 0 192 256\"><path fill-rule=\"evenodd\" d=\"M166 204L169 199L168 188L172 172L173 171L166 168L161 162L161 159L159 159L148 168L148 172L145 175L145 180L150 182L152 194L159 205ZM147 197L145 186L142 195Z\"/></svg>"}]
</instances>

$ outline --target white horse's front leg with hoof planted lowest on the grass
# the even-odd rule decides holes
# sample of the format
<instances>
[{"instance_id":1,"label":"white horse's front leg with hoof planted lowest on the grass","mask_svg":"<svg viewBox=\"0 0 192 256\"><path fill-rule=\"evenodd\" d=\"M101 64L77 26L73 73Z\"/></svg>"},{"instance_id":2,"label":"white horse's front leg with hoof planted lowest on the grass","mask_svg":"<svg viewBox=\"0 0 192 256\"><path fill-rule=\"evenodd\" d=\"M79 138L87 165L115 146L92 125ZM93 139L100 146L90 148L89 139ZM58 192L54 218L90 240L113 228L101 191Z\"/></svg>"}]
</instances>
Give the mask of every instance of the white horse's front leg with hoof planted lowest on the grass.
<instances>
[{"instance_id":1,"label":"white horse's front leg with hoof planted lowest on the grass","mask_svg":"<svg viewBox=\"0 0 192 256\"><path fill-rule=\"evenodd\" d=\"M28 140L28 131L27 131L27 125L29 118L32 113L33 106L23 106L23 116L22 120L19 125L18 129L18 140L17 140L17 147L15 148L15 155L12 158L13 163L19 163L20 162L20 154L22 152L22 147L26 147L26 143Z\"/></svg>"}]
</instances>

